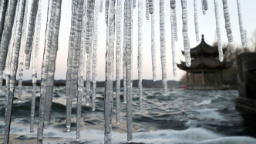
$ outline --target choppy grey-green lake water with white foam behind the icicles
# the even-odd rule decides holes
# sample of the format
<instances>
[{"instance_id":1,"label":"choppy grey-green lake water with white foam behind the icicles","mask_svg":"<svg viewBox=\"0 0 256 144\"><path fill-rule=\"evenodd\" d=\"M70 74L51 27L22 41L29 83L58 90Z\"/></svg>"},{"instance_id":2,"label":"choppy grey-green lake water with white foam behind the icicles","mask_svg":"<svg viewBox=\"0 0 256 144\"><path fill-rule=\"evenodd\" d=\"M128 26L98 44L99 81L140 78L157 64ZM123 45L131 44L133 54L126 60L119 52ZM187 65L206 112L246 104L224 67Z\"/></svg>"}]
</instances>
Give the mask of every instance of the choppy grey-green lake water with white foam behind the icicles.
<instances>
[{"instance_id":1,"label":"choppy grey-green lake water with white foam behind the icicles","mask_svg":"<svg viewBox=\"0 0 256 144\"><path fill-rule=\"evenodd\" d=\"M39 89L39 87L38 87ZM143 89L143 111L139 109L138 89L133 89L133 142L136 143L256 143L255 129L248 126L244 114L235 109L237 91L196 91ZM30 105L32 88L24 87L22 102L15 99L12 112L13 139L36 139L30 134ZM96 92L96 111L85 103L82 107L81 143L103 142L103 94ZM73 99L72 132L66 132L65 87L55 87L52 117L44 132L45 143L76 142L76 99ZM113 143L126 142L126 105L121 98L120 125L113 117ZM0 95L0 133L3 135L5 93ZM39 116L39 93L36 98L35 122ZM115 116L115 104L114 112ZM35 123L35 132L37 125ZM251 136L251 137L250 137ZM2 138L2 137L1 137ZM2 139L0 139L0 142Z\"/></svg>"}]
</instances>

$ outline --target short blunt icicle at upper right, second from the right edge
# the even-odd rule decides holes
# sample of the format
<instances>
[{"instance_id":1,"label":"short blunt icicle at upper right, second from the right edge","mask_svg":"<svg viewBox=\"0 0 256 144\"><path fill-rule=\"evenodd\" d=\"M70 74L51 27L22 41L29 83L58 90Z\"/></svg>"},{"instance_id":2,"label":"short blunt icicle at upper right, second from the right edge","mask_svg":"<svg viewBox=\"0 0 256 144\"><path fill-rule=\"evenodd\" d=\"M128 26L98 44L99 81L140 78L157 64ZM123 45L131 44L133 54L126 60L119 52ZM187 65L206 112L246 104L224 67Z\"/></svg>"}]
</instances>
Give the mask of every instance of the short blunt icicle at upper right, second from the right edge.
<instances>
[{"instance_id":1,"label":"short blunt icicle at upper right, second from the right edge","mask_svg":"<svg viewBox=\"0 0 256 144\"><path fill-rule=\"evenodd\" d=\"M227 0L223 0L224 18L225 18L225 28L227 32L228 42L233 42L233 35L231 30L231 19L229 17Z\"/></svg>"}]
</instances>

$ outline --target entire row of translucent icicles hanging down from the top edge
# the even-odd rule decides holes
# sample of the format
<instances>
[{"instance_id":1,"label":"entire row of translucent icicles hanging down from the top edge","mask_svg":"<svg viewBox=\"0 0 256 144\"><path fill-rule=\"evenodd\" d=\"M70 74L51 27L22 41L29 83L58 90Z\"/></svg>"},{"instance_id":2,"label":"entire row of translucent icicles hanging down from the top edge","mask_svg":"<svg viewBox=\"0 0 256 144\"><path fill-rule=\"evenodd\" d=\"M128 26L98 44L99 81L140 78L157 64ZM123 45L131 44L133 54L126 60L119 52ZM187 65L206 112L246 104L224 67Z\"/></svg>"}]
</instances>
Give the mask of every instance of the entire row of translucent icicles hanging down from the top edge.
<instances>
[{"instance_id":1,"label":"entire row of translucent icicles hanging down from the top edge","mask_svg":"<svg viewBox=\"0 0 256 144\"><path fill-rule=\"evenodd\" d=\"M122 8L124 2L124 6ZM167 95L167 63L165 38L164 0L160 0L160 55L164 94ZM114 48L116 43L116 123L120 123L120 73L123 61L123 102L127 107L127 140L133 140L132 131L132 69L133 69L133 8L138 8L138 79L140 109L142 105L142 49L143 49L143 0L106 0L106 88L104 99L105 143L111 143L113 115L113 72ZM155 49L155 14L154 1L146 0L146 18L151 18L151 57L153 81L156 81L156 49ZM35 93L37 80L37 59L41 32L41 0L32 0L28 17L29 0L2 0L0 2L0 90L2 91L3 71L5 69L6 109L5 109L5 143L8 143L12 104L15 89L15 75L19 65L19 101L22 96L23 70L29 69L32 62L32 106L30 132L34 131ZM56 54L59 43L59 25L62 0L49 0L48 16L45 29L45 46L42 62L40 89L39 124L37 130L38 143L42 143L43 129L47 129L51 116L53 79L56 66ZM190 40L187 27L187 1L181 0L184 53L186 65L190 66ZM207 0L201 2L205 15L208 9ZM225 28L227 39L233 41L231 22L227 0L223 0ZM123 12L122 12L123 9ZM171 47L173 58L173 75L176 75L175 41L177 41L176 1L170 0ZM221 47L221 31L219 25L218 4L214 0L216 17L217 42L219 59L223 61ZM241 21L241 6L237 0L241 42L246 47L244 28ZM86 105L90 104L92 95L93 111L96 109L96 64L98 47L98 18L103 12L103 0L72 0L71 29L69 35L69 55L66 73L66 127L70 131L72 99L77 99L76 139L80 139L81 107L83 95L86 93ZM123 13L123 24L122 24ZM197 18L197 0L194 0L194 24L196 41L199 42ZM123 38L122 38L123 31ZM123 55L122 55L123 45ZM122 59L123 57L123 59ZM32 58L32 60L31 60ZM90 75L93 73L93 78ZM86 85L84 85L86 75ZM91 86L91 80L93 86ZM91 89L93 87L93 89ZM84 90L85 89L85 90ZM92 90L92 92L91 92ZM85 92L84 92L85 91Z\"/></svg>"}]
</instances>

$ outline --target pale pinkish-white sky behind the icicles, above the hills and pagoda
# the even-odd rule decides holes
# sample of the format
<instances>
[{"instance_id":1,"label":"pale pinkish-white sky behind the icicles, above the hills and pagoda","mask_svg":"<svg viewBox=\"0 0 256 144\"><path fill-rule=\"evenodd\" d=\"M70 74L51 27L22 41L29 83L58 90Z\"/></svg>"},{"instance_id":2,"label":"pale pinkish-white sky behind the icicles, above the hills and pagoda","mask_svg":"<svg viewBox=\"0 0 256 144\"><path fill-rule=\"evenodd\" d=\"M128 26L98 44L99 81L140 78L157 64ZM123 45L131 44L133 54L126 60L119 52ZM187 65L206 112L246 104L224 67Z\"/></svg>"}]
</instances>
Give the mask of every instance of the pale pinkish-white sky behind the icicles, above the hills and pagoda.
<instances>
[{"instance_id":1,"label":"pale pinkish-white sky behind the icicles, above the hills and pagoda","mask_svg":"<svg viewBox=\"0 0 256 144\"><path fill-rule=\"evenodd\" d=\"M124 1L123 1L124 2ZM156 42L156 64L157 64L157 80L161 79L161 62L160 62L160 15L159 15L159 0L155 0L155 42ZM197 46L200 42L196 41L194 30L194 1L187 0L187 15L188 15L188 34L190 39L190 47ZM214 0L209 0L208 10L206 15L203 15L201 8L201 0L197 0L197 15L199 34L204 35L204 39L208 44L212 44L216 41L216 22L214 13ZM221 27L221 41L222 44L227 44L227 35L224 25L224 14L222 0L217 0L219 5L219 17ZM231 29L234 36L234 42L232 44L241 47L241 37L237 16L237 2L234 0L227 0L229 6L229 12L231 17ZM29 0L29 7L31 1ZM255 0L243 0L241 1L241 12L244 29L246 30L247 38L250 39L252 32L256 29L256 1ZM38 79L41 78L42 73L42 57L45 41L45 26L47 19L47 7L48 1L42 0L42 32L40 36L40 49L38 59ZM151 21L146 19L145 1L143 1L143 79L153 79L152 66L151 66ZM181 18L181 2L177 1L177 33L178 40L175 42L176 49L176 62L180 63L180 60L184 61L184 56L181 54L181 49L184 49L183 35L182 35L182 18ZM106 54L106 23L105 23L105 5L103 5L103 12L99 13L99 47L98 47L98 65L97 65L97 80L105 80L105 54ZM123 8L122 8L123 11ZM170 46L170 0L165 0L165 28L166 28L166 55L167 55L167 79L179 80L184 71L177 68L177 76L173 76L172 72L172 55ZM137 72L137 5L133 8L133 79L138 78ZM122 18L123 19L123 18ZM66 79L67 69L67 56L69 49L69 32L71 21L71 0L62 0L62 16L59 30L59 50L56 59L56 72L55 79ZM250 40L248 40L250 45ZM116 64L115 64L116 65ZM24 79L32 79L32 70L24 71ZM116 69L115 69L116 72ZM121 72L122 73L122 72ZM122 77L123 75L121 75Z\"/></svg>"}]
</instances>

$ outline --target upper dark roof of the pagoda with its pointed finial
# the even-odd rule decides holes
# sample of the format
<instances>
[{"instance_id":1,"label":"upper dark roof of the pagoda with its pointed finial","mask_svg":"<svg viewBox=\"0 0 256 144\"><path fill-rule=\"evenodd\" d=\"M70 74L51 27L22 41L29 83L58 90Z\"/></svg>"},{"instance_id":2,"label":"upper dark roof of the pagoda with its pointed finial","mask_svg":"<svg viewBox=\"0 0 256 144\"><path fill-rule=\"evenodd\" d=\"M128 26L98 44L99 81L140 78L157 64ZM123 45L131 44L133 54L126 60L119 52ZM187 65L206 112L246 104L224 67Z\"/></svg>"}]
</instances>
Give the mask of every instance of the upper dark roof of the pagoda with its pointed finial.
<instances>
[{"instance_id":1,"label":"upper dark roof of the pagoda with its pointed finial","mask_svg":"<svg viewBox=\"0 0 256 144\"><path fill-rule=\"evenodd\" d=\"M182 51L182 54L184 55L184 51ZM223 53L227 51L227 47L222 49ZM191 57L194 55L197 55L198 53L203 52L204 54L211 54L211 55L218 55L218 47L217 46L211 46L208 45L204 41L204 35L202 35L202 39L199 45L197 45L194 48L190 49L190 55Z\"/></svg>"}]
</instances>

